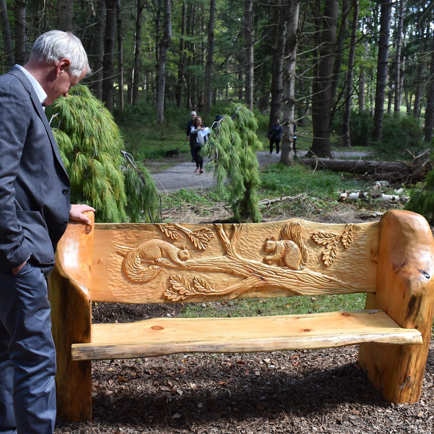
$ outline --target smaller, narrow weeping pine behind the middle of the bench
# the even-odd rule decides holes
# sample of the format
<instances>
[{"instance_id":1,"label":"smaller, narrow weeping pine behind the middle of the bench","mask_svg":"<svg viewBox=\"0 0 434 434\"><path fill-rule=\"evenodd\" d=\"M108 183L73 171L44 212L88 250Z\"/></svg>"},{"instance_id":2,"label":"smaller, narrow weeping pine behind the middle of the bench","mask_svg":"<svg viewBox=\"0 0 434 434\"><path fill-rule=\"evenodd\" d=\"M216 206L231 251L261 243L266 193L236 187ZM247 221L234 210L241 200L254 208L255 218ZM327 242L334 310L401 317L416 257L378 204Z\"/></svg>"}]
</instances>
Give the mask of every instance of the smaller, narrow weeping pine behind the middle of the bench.
<instances>
[{"instance_id":1,"label":"smaller, narrow weeping pine behind the middle of the bench","mask_svg":"<svg viewBox=\"0 0 434 434\"><path fill-rule=\"evenodd\" d=\"M256 158L261 145L255 134L257 128L253 113L245 105L236 104L232 115L225 115L214 123L210 139L202 151L210 158L206 170L214 172L218 193L228 197L235 220L243 223L261 221Z\"/></svg>"}]
</instances>

